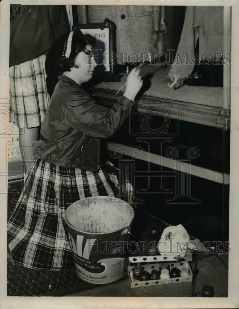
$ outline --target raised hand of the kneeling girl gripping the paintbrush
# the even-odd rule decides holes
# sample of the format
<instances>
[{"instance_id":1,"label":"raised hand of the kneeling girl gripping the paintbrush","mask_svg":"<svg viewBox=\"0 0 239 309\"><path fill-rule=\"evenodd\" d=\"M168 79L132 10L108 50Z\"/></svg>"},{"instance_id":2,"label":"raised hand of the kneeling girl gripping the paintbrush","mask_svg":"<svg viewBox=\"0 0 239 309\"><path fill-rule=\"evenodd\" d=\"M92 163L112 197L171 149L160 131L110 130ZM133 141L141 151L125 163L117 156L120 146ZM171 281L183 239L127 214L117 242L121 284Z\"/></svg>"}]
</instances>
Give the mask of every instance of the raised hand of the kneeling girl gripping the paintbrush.
<instances>
[{"instance_id":1,"label":"raised hand of the kneeling girl gripping the paintbrush","mask_svg":"<svg viewBox=\"0 0 239 309\"><path fill-rule=\"evenodd\" d=\"M143 85L143 81L141 79L140 69L133 68L133 70L129 73L126 83L126 89L124 92L124 96L132 101L134 101L137 93Z\"/></svg>"}]
</instances>

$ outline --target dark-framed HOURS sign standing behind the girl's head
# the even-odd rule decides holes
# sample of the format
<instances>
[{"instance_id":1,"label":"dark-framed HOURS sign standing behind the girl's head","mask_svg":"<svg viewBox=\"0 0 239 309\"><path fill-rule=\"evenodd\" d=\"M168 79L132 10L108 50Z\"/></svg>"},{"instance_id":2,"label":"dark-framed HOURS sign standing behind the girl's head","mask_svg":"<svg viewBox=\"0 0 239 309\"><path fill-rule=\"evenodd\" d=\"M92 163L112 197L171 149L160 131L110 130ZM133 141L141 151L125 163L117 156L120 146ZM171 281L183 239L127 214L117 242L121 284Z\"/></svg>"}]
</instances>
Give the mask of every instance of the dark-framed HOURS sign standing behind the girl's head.
<instances>
[{"instance_id":1,"label":"dark-framed HOURS sign standing behind the girl's head","mask_svg":"<svg viewBox=\"0 0 239 309\"><path fill-rule=\"evenodd\" d=\"M89 33L96 38L95 60L96 72L104 82L120 81L121 75L116 74L116 26L106 18L103 23L86 23L73 25L72 30L80 29L84 34Z\"/></svg>"}]
</instances>

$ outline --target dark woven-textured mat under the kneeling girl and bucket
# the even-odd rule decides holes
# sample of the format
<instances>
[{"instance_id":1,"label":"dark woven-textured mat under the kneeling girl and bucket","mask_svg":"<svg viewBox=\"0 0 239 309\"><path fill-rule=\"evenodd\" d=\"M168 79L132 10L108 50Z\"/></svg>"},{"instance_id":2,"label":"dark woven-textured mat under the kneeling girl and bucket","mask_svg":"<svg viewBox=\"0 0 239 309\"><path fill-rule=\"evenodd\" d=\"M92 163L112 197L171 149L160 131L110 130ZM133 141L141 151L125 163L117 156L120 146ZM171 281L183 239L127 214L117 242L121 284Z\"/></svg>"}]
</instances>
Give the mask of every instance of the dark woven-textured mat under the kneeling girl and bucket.
<instances>
[{"instance_id":1,"label":"dark woven-textured mat under the kneeling girl and bucket","mask_svg":"<svg viewBox=\"0 0 239 309\"><path fill-rule=\"evenodd\" d=\"M20 196L21 182L11 185L8 194L7 220ZM7 296L64 296L96 285L76 276L74 269L34 270L14 263L7 252Z\"/></svg>"}]
</instances>

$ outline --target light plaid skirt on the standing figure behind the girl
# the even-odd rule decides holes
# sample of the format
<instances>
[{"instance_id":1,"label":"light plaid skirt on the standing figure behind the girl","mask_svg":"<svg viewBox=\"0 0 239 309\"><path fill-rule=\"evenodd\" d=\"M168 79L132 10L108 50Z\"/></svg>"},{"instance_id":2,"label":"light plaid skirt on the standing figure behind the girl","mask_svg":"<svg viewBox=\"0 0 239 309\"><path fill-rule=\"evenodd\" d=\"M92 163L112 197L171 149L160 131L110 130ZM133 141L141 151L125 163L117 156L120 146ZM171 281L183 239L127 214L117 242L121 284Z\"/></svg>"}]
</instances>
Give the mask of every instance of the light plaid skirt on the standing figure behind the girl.
<instances>
[{"instance_id":1,"label":"light plaid skirt on the standing figure behind the girl","mask_svg":"<svg viewBox=\"0 0 239 309\"><path fill-rule=\"evenodd\" d=\"M46 89L46 54L9 68L9 121L19 128L38 127L50 96Z\"/></svg>"}]
</instances>

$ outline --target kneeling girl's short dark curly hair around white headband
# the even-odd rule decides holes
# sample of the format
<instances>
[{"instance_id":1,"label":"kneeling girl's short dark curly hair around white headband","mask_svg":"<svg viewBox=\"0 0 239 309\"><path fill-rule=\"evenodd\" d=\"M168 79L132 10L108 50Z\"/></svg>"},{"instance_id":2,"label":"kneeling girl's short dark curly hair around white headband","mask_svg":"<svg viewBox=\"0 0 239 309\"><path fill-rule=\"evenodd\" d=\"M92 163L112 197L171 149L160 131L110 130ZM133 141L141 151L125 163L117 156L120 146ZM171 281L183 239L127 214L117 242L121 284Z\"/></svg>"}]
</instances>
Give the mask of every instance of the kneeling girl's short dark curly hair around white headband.
<instances>
[{"instance_id":1,"label":"kneeling girl's short dark curly hair around white headband","mask_svg":"<svg viewBox=\"0 0 239 309\"><path fill-rule=\"evenodd\" d=\"M56 71L59 74L66 71L69 72L71 68L75 66L75 59L78 53L84 52L85 54L89 54L89 51L86 49L86 45L95 46L95 37L90 34L83 34L80 29L74 30L70 56L69 58L66 58L65 56L60 57L56 61Z\"/></svg>"}]
</instances>

